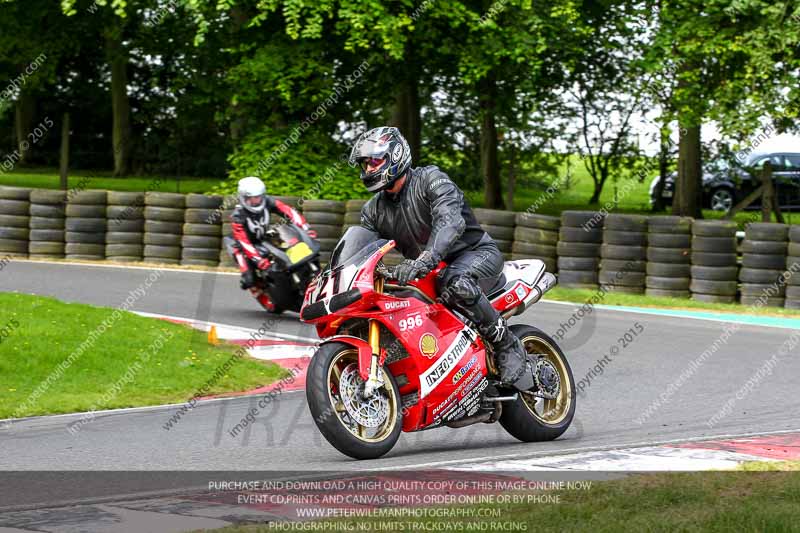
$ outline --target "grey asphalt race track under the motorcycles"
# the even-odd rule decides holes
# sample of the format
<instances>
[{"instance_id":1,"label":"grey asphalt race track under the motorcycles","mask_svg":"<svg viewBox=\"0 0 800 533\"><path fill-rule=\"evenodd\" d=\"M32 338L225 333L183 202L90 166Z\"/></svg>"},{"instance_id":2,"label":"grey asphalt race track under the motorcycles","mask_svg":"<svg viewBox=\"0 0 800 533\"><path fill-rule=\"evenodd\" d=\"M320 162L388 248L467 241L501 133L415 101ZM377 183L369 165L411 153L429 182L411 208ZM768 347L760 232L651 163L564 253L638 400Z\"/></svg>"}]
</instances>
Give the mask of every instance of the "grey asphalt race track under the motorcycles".
<instances>
[{"instance_id":1,"label":"grey asphalt race track under the motorcycles","mask_svg":"<svg viewBox=\"0 0 800 533\"><path fill-rule=\"evenodd\" d=\"M0 275L0 291L54 296L69 302L114 307L148 275L142 268L16 261ZM135 310L258 327L264 313L238 287L238 276L167 271L133 306ZM542 302L517 321L554 333L574 305ZM723 322L597 309L578 322L562 346L579 381L619 338L643 331L606 365L578 396L572 428L559 440L521 444L499 425L437 429L405 434L370 468L435 467L493 456L530 457L555 452L626 447L719 435L797 429L800 361L789 356L733 412L713 428L706 422L750 379L793 333L785 328L743 325L691 376L669 401L644 420L647 406L715 340ZM296 318L281 318L275 331L314 337ZM340 455L315 429L302 392L282 395L260 414L251 431L227 432L253 400L212 400L170 429L163 425L174 407L100 414L76 435L66 427L74 416L33 418L0 430L3 470L347 470L363 463Z\"/></svg>"}]
</instances>

